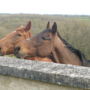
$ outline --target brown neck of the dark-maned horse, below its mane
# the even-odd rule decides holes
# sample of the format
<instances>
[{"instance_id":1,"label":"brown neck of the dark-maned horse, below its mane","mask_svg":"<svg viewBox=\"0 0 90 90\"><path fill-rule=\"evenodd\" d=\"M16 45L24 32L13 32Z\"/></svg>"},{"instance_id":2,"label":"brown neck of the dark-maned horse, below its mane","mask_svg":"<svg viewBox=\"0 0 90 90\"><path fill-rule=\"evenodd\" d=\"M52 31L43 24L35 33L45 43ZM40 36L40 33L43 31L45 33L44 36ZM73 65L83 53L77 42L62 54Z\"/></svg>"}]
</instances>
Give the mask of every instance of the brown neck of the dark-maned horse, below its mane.
<instances>
[{"instance_id":1,"label":"brown neck of the dark-maned horse, below its mane","mask_svg":"<svg viewBox=\"0 0 90 90\"><path fill-rule=\"evenodd\" d=\"M82 64L79 57L72 53L58 36L56 36L54 40L54 49L60 63L73 65Z\"/></svg>"}]
</instances>

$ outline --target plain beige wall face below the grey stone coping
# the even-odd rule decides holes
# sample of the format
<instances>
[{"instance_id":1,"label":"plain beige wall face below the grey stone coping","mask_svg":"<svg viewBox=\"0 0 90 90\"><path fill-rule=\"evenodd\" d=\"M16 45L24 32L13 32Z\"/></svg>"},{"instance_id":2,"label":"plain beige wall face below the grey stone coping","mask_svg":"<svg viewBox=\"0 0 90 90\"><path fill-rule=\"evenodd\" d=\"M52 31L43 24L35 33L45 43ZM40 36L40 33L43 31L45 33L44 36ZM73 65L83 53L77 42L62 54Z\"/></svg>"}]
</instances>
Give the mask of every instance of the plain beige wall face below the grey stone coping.
<instances>
[{"instance_id":1,"label":"plain beige wall face below the grey stone coping","mask_svg":"<svg viewBox=\"0 0 90 90\"><path fill-rule=\"evenodd\" d=\"M0 90L82 90L52 83L0 75Z\"/></svg>"}]
</instances>

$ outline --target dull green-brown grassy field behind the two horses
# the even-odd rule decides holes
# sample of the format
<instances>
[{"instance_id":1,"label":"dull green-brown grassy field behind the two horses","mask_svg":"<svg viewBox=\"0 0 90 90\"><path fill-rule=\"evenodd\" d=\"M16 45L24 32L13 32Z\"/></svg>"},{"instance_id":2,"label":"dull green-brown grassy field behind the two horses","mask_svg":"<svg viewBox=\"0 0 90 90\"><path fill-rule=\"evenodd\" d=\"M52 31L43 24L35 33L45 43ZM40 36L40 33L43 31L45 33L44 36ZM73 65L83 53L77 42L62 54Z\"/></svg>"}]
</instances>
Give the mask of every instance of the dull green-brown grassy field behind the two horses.
<instances>
[{"instance_id":1,"label":"dull green-brown grassy field behind the two horses","mask_svg":"<svg viewBox=\"0 0 90 90\"><path fill-rule=\"evenodd\" d=\"M32 21L35 35L45 29L48 21L55 21L60 35L72 46L81 50L90 59L90 17L63 15L0 14L0 38L14 31L18 26Z\"/></svg>"}]
</instances>

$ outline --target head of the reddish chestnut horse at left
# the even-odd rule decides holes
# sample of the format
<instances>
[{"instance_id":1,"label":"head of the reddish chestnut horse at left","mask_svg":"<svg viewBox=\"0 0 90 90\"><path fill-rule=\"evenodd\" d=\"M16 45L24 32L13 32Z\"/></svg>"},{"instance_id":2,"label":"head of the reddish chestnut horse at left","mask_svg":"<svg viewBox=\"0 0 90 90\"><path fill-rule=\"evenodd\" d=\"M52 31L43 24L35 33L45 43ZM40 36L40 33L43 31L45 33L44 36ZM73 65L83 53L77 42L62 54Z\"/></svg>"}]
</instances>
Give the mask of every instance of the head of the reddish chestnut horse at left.
<instances>
[{"instance_id":1,"label":"head of the reddish chestnut horse at left","mask_svg":"<svg viewBox=\"0 0 90 90\"><path fill-rule=\"evenodd\" d=\"M19 27L2 38L0 40L0 55L13 54L14 47L18 42L31 37L31 32L29 32L30 28L31 21L26 26Z\"/></svg>"}]
</instances>

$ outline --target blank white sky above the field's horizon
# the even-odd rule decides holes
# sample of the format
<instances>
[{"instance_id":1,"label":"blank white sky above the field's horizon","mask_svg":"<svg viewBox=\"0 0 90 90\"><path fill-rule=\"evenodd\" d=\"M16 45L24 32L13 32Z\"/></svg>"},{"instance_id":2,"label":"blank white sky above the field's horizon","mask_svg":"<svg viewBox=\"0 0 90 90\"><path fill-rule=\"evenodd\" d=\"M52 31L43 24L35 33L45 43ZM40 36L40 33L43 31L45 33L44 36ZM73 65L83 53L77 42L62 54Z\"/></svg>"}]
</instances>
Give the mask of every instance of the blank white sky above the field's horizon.
<instances>
[{"instance_id":1,"label":"blank white sky above the field's horizon","mask_svg":"<svg viewBox=\"0 0 90 90\"><path fill-rule=\"evenodd\" d=\"M0 13L90 15L90 0L0 0Z\"/></svg>"}]
</instances>

